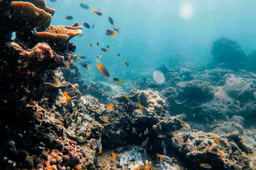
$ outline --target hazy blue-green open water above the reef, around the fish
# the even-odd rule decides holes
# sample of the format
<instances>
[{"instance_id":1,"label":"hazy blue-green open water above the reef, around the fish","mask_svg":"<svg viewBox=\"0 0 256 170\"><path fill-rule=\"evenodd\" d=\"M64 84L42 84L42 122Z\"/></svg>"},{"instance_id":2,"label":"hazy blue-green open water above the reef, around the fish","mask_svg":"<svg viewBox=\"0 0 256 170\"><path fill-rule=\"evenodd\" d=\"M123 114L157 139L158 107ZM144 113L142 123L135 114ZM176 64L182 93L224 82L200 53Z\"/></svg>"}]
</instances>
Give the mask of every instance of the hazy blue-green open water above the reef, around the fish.
<instances>
[{"instance_id":1,"label":"hazy blue-green open water above the reef, around the fish","mask_svg":"<svg viewBox=\"0 0 256 170\"><path fill-rule=\"evenodd\" d=\"M193 6L189 20L180 17L180 6L188 2ZM79 6L87 3L98 8L103 15L94 14L92 9ZM207 64L211 61L212 42L224 36L237 40L245 54L256 46L256 1L240 0L47 0L47 6L56 10L51 24L72 25L85 21L94 30L83 28L84 35L71 39L77 45L75 54L86 56L90 70L80 67L81 77L88 81L112 81L113 77L122 80L136 80L141 76L152 77L153 71L161 64L172 62L173 54L181 54L183 62ZM73 20L63 16L72 15ZM105 35L112 29L108 21L111 16L120 28L116 38ZM110 46L110 54L100 48ZM86 44L94 44L87 47ZM119 52L121 56L116 56ZM97 55L100 62L109 70L110 79L104 78L95 66ZM129 67L121 64L125 60ZM78 62L75 65L80 66ZM87 75L89 77L87 78Z\"/></svg>"}]
</instances>

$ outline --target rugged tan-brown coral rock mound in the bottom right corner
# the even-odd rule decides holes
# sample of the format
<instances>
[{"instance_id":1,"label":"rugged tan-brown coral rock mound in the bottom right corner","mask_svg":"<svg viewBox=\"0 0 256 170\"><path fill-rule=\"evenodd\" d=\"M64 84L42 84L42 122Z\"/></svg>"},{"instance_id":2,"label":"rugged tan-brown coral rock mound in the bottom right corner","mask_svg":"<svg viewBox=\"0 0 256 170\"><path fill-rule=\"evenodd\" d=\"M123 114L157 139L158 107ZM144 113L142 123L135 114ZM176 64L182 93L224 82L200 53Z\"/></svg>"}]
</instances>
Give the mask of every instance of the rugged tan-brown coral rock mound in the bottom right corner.
<instances>
[{"instance_id":1,"label":"rugged tan-brown coral rock mound in the bottom right corner","mask_svg":"<svg viewBox=\"0 0 256 170\"><path fill-rule=\"evenodd\" d=\"M247 156L252 153L252 149L244 145L241 137L236 133L222 135L221 140L226 143L226 149L213 140L214 137L219 137L214 133L174 132L173 135L173 148L190 168L195 169L200 163L208 163L212 169L253 167Z\"/></svg>"}]
</instances>

